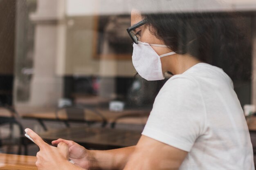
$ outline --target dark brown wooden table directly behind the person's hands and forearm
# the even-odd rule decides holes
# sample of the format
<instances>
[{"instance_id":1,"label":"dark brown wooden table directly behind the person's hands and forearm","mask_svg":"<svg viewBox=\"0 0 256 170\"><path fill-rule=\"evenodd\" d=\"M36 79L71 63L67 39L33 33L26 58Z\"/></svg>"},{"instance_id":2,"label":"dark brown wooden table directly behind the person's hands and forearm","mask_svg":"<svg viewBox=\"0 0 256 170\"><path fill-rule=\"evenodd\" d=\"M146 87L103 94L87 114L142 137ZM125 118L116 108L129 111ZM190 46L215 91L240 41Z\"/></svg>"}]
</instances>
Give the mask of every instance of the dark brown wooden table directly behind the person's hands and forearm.
<instances>
[{"instance_id":1,"label":"dark brown wooden table directly behind the person's hands and forearm","mask_svg":"<svg viewBox=\"0 0 256 170\"><path fill-rule=\"evenodd\" d=\"M114 149L134 146L141 137L140 131L112 128L75 127L49 130L39 134L48 142L58 138L75 141L85 148Z\"/></svg>"}]
</instances>

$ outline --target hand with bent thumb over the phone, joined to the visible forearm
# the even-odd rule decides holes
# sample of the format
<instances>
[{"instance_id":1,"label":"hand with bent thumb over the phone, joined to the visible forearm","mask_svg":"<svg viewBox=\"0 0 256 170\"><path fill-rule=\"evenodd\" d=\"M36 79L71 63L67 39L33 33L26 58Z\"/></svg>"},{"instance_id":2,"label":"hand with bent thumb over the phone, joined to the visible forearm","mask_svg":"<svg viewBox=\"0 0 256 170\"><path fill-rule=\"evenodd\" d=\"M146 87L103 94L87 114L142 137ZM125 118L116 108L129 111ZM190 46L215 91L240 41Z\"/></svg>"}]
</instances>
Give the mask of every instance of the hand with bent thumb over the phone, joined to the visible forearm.
<instances>
[{"instance_id":1,"label":"hand with bent thumb over the phone, joined to the visible forearm","mask_svg":"<svg viewBox=\"0 0 256 170\"><path fill-rule=\"evenodd\" d=\"M74 141L68 141L65 139L52 141L53 146L57 146L61 143L65 143L69 147L69 158L74 161L75 165L80 166L81 168L90 169L90 150L85 149L83 146L75 143Z\"/></svg>"}]
</instances>

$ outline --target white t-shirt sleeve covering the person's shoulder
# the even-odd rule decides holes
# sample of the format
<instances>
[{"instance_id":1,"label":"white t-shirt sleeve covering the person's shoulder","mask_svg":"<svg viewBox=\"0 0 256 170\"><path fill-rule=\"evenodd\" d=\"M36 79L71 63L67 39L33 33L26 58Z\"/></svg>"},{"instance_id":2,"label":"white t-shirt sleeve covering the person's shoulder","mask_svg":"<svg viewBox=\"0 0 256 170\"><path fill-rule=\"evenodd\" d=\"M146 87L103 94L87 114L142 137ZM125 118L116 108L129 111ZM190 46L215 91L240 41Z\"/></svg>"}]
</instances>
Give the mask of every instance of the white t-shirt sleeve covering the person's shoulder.
<instances>
[{"instance_id":1,"label":"white t-shirt sleeve covering the person's shoulder","mask_svg":"<svg viewBox=\"0 0 256 170\"><path fill-rule=\"evenodd\" d=\"M205 107L199 85L172 77L159 91L142 135L189 152L203 133Z\"/></svg>"}]
</instances>

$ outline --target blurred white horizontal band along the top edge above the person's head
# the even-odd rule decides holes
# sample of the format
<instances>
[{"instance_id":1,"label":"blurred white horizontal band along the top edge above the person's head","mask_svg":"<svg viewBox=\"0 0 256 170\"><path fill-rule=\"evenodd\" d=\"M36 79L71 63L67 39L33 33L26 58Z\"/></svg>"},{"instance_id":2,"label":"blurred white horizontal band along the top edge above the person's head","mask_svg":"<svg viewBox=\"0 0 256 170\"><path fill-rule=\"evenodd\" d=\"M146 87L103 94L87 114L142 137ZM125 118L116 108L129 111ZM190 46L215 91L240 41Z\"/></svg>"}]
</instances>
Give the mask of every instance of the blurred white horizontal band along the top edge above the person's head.
<instances>
[{"instance_id":1,"label":"blurred white horizontal band along the top edge above the person's head","mask_svg":"<svg viewBox=\"0 0 256 170\"><path fill-rule=\"evenodd\" d=\"M150 2L150 3L145 3ZM252 11L256 0L66 0L69 16L130 13L131 4L143 5L145 12Z\"/></svg>"}]
</instances>

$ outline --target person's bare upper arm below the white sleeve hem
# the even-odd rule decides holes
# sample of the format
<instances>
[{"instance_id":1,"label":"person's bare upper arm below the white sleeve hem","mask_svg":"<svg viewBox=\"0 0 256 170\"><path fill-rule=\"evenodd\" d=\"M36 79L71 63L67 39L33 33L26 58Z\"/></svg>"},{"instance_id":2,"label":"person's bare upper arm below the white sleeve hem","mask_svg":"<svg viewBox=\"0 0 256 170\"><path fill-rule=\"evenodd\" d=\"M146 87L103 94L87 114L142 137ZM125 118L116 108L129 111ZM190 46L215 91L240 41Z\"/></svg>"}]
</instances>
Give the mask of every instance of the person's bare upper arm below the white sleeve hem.
<instances>
[{"instance_id":1,"label":"person's bare upper arm below the white sleeve hem","mask_svg":"<svg viewBox=\"0 0 256 170\"><path fill-rule=\"evenodd\" d=\"M142 135L124 170L178 170L187 153Z\"/></svg>"}]
</instances>

